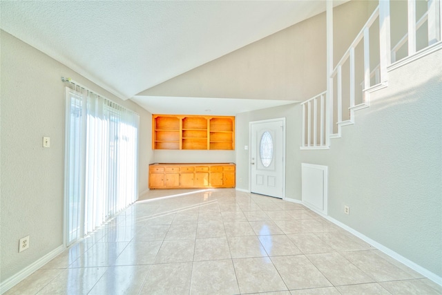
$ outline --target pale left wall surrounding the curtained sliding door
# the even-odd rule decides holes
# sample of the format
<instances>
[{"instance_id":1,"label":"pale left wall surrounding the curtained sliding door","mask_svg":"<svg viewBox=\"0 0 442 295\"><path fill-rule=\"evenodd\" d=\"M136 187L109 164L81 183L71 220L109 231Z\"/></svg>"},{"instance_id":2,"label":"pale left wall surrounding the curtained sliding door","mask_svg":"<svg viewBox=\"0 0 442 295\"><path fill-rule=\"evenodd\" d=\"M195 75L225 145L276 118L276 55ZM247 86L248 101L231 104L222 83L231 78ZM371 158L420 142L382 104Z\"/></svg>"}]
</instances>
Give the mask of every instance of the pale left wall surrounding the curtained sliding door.
<instances>
[{"instance_id":1,"label":"pale left wall surrounding the curtained sliding door","mask_svg":"<svg viewBox=\"0 0 442 295\"><path fill-rule=\"evenodd\" d=\"M1 32L1 282L63 244L64 88L61 76L140 114L140 191L147 189L151 114ZM50 148L42 137L50 137ZM30 248L18 253L19 238Z\"/></svg>"}]
</instances>

